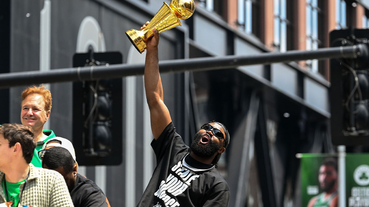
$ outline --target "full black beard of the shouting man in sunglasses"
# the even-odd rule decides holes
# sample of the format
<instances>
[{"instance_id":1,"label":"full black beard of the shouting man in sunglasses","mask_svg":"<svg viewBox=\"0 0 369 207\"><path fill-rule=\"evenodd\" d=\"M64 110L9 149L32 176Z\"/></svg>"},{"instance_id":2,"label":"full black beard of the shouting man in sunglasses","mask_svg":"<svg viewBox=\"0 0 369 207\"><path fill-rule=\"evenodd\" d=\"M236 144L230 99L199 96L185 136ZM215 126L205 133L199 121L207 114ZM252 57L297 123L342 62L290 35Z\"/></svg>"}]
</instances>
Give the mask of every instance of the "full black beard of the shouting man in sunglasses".
<instances>
[{"instance_id":1,"label":"full black beard of the shouting man in sunglasses","mask_svg":"<svg viewBox=\"0 0 369 207\"><path fill-rule=\"evenodd\" d=\"M199 141L202 137L202 134L197 132L195 134L195 137L193 138L193 141L191 143L190 149L199 157L203 158L210 158L214 155L215 152L217 152L220 149L220 145L217 143L214 143L213 140L209 140L209 143L205 147L199 146Z\"/></svg>"}]
</instances>

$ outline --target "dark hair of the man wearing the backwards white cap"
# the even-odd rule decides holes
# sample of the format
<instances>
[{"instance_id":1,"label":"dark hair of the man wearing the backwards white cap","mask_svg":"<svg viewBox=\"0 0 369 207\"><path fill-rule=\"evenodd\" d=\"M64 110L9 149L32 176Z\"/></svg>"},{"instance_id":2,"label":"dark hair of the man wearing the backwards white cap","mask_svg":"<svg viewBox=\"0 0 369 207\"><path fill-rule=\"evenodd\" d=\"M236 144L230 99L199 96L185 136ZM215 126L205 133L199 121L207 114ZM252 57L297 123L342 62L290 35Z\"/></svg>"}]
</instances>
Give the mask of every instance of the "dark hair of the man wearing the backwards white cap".
<instances>
[{"instance_id":1,"label":"dark hair of the man wearing the backwards white cap","mask_svg":"<svg viewBox=\"0 0 369 207\"><path fill-rule=\"evenodd\" d=\"M65 173L73 172L74 163L75 161L70 152L63 147L51 147L42 158L42 166L46 165L50 169L62 166Z\"/></svg>"}]
</instances>

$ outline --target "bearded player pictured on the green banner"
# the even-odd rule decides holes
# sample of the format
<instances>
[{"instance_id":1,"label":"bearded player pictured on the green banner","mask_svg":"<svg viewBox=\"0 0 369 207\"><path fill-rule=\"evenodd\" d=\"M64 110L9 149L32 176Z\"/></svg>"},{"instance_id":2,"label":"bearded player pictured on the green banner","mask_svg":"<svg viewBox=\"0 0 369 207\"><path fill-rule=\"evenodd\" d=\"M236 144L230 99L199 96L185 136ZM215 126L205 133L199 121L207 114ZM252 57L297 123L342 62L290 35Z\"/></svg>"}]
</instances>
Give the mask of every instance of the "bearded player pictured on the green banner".
<instances>
[{"instance_id":1,"label":"bearded player pictured on the green banner","mask_svg":"<svg viewBox=\"0 0 369 207\"><path fill-rule=\"evenodd\" d=\"M338 206L338 171L337 162L327 158L319 168L319 185L323 193L310 199L308 207L337 207Z\"/></svg>"}]
</instances>

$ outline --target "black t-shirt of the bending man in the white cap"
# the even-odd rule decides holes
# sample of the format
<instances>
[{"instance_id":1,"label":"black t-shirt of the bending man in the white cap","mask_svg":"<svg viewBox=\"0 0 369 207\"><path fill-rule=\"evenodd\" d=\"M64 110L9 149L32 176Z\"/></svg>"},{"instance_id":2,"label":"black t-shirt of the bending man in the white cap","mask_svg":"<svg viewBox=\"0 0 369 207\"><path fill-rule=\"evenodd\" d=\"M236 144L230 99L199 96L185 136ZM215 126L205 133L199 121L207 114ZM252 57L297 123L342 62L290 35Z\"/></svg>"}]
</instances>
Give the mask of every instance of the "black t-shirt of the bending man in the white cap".
<instances>
[{"instance_id":1,"label":"black t-shirt of the bending man in the white cap","mask_svg":"<svg viewBox=\"0 0 369 207\"><path fill-rule=\"evenodd\" d=\"M92 180L77 173L76 183L70 192L75 207L107 207L103 191Z\"/></svg>"}]
</instances>

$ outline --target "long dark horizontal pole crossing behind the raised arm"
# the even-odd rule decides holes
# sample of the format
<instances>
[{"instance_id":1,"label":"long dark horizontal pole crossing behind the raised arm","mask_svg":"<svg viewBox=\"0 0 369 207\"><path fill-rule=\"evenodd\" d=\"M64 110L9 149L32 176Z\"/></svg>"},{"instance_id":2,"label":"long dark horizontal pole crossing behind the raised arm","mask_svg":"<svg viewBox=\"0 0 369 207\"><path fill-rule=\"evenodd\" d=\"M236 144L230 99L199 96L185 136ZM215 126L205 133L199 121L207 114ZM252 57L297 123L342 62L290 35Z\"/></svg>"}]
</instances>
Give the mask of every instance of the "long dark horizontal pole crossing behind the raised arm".
<instances>
[{"instance_id":1,"label":"long dark horizontal pole crossing behind the raised arm","mask_svg":"<svg viewBox=\"0 0 369 207\"><path fill-rule=\"evenodd\" d=\"M340 46L317 50L290 50L284 53L267 52L248 56L215 56L191 59L175 59L159 62L160 73L180 73L183 71L205 71L232 69L238 66L271 63L286 63L299 60L349 58L367 56L368 46ZM20 85L58 83L66 81L90 81L112 79L144 74L144 64L111 64L109 66L89 66L78 68L52 69L49 71L24 71L0 74L0 88Z\"/></svg>"}]
</instances>

